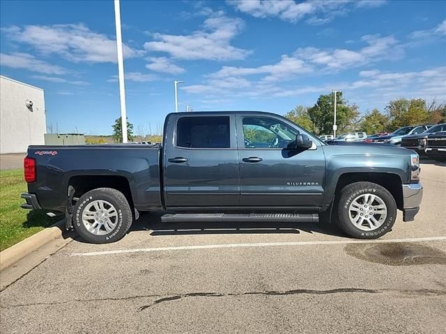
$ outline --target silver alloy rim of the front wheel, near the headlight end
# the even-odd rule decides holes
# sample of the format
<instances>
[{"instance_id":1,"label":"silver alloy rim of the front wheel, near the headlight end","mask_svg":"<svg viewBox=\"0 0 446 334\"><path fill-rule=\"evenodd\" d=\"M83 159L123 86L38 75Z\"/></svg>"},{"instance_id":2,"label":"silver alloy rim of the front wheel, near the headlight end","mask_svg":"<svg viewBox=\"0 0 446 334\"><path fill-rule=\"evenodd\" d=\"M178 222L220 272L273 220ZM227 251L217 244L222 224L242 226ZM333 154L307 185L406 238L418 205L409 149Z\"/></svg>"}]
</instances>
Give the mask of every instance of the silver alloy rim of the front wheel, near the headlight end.
<instances>
[{"instance_id":1,"label":"silver alloy rim of the front wheel, near the headlight end","mask_svg":"<svg viewBox=\"0 0 446 334\"><path fill-rule=\"evenodd\" d=\"M348 217L360 230L375 230L385 222L387 206L379 196L364 193L351 202L348 207Z\"/></svg>"}]
</instances>

